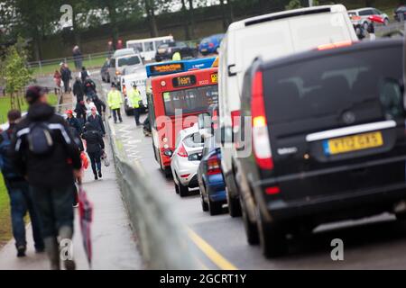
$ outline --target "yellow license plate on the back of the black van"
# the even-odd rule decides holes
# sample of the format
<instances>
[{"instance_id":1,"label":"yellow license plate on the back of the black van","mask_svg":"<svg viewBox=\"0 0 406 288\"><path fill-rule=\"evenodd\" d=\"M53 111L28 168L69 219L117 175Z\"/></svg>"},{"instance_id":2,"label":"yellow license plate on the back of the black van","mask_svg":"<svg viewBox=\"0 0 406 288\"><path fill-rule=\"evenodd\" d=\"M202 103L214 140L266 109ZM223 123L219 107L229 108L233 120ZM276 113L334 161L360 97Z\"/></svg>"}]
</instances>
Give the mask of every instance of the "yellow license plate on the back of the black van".
<instances>
[{"instance_id":1,"label":"yellow license plate on the back of the black van","mask_svg":"<svg viewBox=\"0 0 406 288\"><path fill-rule=\"evenodd\" d=\"M323 142L326 155L335 155L380 146L383 146L381 132L358 134L343 138L329 139Z\"/></svg>"}]
</instances>

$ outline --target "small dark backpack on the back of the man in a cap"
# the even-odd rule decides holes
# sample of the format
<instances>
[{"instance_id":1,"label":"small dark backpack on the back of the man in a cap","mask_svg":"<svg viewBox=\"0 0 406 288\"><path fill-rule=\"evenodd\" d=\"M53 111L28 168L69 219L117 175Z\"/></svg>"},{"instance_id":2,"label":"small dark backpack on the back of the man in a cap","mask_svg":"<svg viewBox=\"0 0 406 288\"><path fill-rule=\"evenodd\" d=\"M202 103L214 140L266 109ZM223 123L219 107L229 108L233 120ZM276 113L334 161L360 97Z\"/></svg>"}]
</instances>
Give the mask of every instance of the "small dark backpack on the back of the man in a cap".
<instances>
[{"instance_id":1,"label":"small dark backpack on the back of the man in a cap","mask_svg":"<svg viewBox=\"0 0 406 288\"><path fill-rule=\"evenodd\" d=\"M33 122L27 140L28 148L36 155L48 154L53 148L52 131L46 122Z\"/></svg>"}]
</instances>

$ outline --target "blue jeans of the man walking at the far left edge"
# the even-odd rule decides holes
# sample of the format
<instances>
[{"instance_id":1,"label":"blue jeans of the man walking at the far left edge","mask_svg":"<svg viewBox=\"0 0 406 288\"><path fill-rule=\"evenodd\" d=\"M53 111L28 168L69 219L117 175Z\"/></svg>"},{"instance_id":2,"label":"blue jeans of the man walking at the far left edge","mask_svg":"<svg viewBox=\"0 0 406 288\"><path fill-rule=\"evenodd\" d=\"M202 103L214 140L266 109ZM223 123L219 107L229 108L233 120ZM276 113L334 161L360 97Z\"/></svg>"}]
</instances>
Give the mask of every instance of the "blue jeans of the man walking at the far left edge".
<instances>
[{"instance_id":1,"label":"blue jeans of the man walking at the far left edge","mask_svg":"<svg viewBox=\"0 0 406 288\"><path fill-rule=\"evenodd\" d=\"M38 218L36 207L32 202L32 195L30 193L30 187L28 183L25 181L5 180L5 185L10 196L15 247L27 245L27 241L25 239L24 216L27 214L28 211L32 223L32 236L34 239L35 248L42 249L44 246L41 235L40 220Z\"/></svg>"}]
</instances>

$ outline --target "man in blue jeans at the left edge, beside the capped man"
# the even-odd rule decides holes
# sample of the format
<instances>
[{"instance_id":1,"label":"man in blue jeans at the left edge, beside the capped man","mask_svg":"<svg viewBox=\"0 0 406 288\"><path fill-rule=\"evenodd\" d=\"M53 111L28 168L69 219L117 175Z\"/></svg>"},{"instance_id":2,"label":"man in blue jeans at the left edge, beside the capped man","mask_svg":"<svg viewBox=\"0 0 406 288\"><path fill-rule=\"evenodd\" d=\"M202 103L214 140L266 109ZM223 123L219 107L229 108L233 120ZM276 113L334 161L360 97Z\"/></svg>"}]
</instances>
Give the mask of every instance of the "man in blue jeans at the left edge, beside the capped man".
<instances>
[{"instance_id":1,"label":"man in blue jeans at the left edge, beside the capped man","mask_svg":"<svg viewBox=\"0 0 406 288\"><path fill-rule=\"evenodd\" d=\"M13 236L15 247L17 248L17 257L25 257L27 241L25 239L25 221L24 217L30 214L32 224L32 236L34 247L37 253L44 251L44 244L41 235L40 220L35 210L30 194L28 182L15 168L10 158L11 137L14 132L16 122L21 119L21 112L10 110L7 113L9 128L0 134L0 167L5 179L5 187L10 196L11 218L13 226Z\"/></svg>"}]
</instances>

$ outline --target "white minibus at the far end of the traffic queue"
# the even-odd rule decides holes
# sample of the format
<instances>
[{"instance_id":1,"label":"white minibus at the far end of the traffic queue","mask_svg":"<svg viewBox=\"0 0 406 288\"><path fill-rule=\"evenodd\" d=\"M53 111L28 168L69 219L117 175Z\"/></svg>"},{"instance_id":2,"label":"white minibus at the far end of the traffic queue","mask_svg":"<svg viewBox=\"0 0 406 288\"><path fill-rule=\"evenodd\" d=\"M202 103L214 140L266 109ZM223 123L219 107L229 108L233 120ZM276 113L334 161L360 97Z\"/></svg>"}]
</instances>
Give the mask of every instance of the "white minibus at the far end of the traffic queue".
<instances>
[{"instance_id":1,"label":"white minibus at the far end of the traffic queue","mask_svg":"<svg viewBox=\"0 0 406 288\"><path fill-rule=\"evenodd\" d=\"M155 37L140 40L126 41L126 47L140 53L145 61L151 61L155 57L156 50L161 44L172 42L173 36Z\"/></svg>"}]
</instances>

